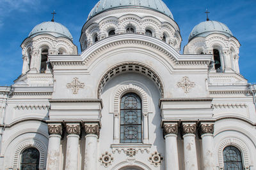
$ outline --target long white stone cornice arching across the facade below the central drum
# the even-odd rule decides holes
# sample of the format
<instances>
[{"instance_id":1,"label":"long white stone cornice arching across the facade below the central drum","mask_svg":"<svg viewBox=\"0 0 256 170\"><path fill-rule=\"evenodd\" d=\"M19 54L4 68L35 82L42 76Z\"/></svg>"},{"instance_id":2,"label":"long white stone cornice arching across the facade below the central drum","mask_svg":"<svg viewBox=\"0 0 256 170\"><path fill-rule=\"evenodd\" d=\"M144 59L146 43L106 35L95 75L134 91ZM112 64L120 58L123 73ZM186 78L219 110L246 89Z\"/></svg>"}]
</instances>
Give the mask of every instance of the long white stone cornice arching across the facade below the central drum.
<instances>
[{"instance_id":1,"label":"long white stone cornice arching across the facade below the central drum","mask_svg":"<svg viewBox=\"0 0 256 170\"><path fill-rule=\"evenodd\" d=\"M82 53L81 57L65 57L61 59L60 56L49 56L49 59L54 66L89 66L91 62L95 60L95 58L101 56L102 53L106 53L109 50L120 48L120 46L127 47L127 45L132 45L134 47L142 46L145 49L154 50L156 53L159 53L159 55L166 57L166 59L172 62L174 66L207 67L211 61L210 55L205 57L198 57L198 55L180 55L175 51L175 49L166 45L160 39L152 38L145 35L131 34L127 36L126 34L121 34L111 38L110 42L109 40L109 38L106 38L102 41L99 41L99 43L95 43L94 45L90 46ZM86 55L86 57L83 57L84 55Z\"/></svg>"}]
</instances>

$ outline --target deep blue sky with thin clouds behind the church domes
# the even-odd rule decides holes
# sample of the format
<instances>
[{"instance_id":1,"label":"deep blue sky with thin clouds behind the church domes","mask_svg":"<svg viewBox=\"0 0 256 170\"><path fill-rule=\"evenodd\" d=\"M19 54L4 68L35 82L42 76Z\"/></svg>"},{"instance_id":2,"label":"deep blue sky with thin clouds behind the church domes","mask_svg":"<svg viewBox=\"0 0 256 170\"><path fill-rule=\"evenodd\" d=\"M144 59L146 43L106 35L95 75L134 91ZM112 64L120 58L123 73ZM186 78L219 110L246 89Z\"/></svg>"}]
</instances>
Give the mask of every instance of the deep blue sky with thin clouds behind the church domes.
<instances>
[{"instance_id":1,"label":"deep blue sky with thin clouds behind the church domes","mask_svg":"<svg viewBox=\"0 0 256 170\"><path fill-rule=\"evenodd\" d=\"M22 53L20 44L29 32L52 18L71 32L74 43L79 45L81 28L98 0L0 0L0 85L11 85L21 73ZM239 66L241 74L256 82L256 1L255 0L163 0L179 24L183 46L196 24L205 20L205 8L210 20L226 24L241 43Z\"/></svg>"}]
</instances>

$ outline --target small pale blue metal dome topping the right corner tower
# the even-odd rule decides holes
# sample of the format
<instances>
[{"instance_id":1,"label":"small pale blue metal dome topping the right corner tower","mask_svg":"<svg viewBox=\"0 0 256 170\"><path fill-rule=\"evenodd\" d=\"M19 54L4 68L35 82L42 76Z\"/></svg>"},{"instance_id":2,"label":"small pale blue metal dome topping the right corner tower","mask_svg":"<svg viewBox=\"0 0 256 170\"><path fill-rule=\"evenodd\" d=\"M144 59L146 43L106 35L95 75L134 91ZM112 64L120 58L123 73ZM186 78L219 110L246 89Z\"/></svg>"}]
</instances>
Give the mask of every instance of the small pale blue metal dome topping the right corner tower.
<instances>
[{"instance_id":1,"label":"small pale blue metal dome topping the right corner tower","mask_svg":"<svg viewBox=\"0 0 256 170\"><path fill-rule=\"evenodd\" d=\"M218 21L209 20L201 22L200 24L196 25L193 31L190 33L188 41L198 36L206 37L212 33L224 34L228 37L233 36L232 32L230 31L230 29L228 29L227 25Z\"/></svg>"}]
</instances>

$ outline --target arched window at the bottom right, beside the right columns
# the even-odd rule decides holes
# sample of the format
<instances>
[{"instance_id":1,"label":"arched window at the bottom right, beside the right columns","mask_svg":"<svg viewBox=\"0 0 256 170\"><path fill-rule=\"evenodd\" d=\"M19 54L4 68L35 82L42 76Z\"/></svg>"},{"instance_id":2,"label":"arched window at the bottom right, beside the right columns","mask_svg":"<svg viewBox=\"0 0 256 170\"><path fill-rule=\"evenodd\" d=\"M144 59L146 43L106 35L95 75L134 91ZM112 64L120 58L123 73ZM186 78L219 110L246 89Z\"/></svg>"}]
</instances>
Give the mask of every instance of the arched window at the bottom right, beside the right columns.
<instances>
[{"instance_id":1,"label":"arched window at the bottom right, beside the right columns","mask_svg":"<svg viewBox=\"0 0 256 170\"><path fill-rule=\"evenodd\" d=\"M234 146L227 146L223 150L223 161L225 170L242 170L241 152Z\"/></svg>"}]
</instances>

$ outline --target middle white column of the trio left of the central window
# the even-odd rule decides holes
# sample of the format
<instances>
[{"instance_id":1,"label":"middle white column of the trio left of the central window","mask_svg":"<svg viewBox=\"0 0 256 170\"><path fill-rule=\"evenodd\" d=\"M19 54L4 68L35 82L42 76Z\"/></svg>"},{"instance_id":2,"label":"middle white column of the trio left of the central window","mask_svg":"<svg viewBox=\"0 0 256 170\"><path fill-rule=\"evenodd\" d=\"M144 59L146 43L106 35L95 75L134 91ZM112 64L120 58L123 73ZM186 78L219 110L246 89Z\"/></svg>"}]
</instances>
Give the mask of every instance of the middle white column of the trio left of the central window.
<instances>
[{"instance_id":1,"label":"middle white column of the trio left of the central window","mask_svg":"<svg viewBox=\"0 0 256 170\"><path fill-rule=\"evenodd\" d=\"M65 170L78 169L78 150L79 150L79 123L67 124L67 153Z\"/></svg>"}]
</instances>

